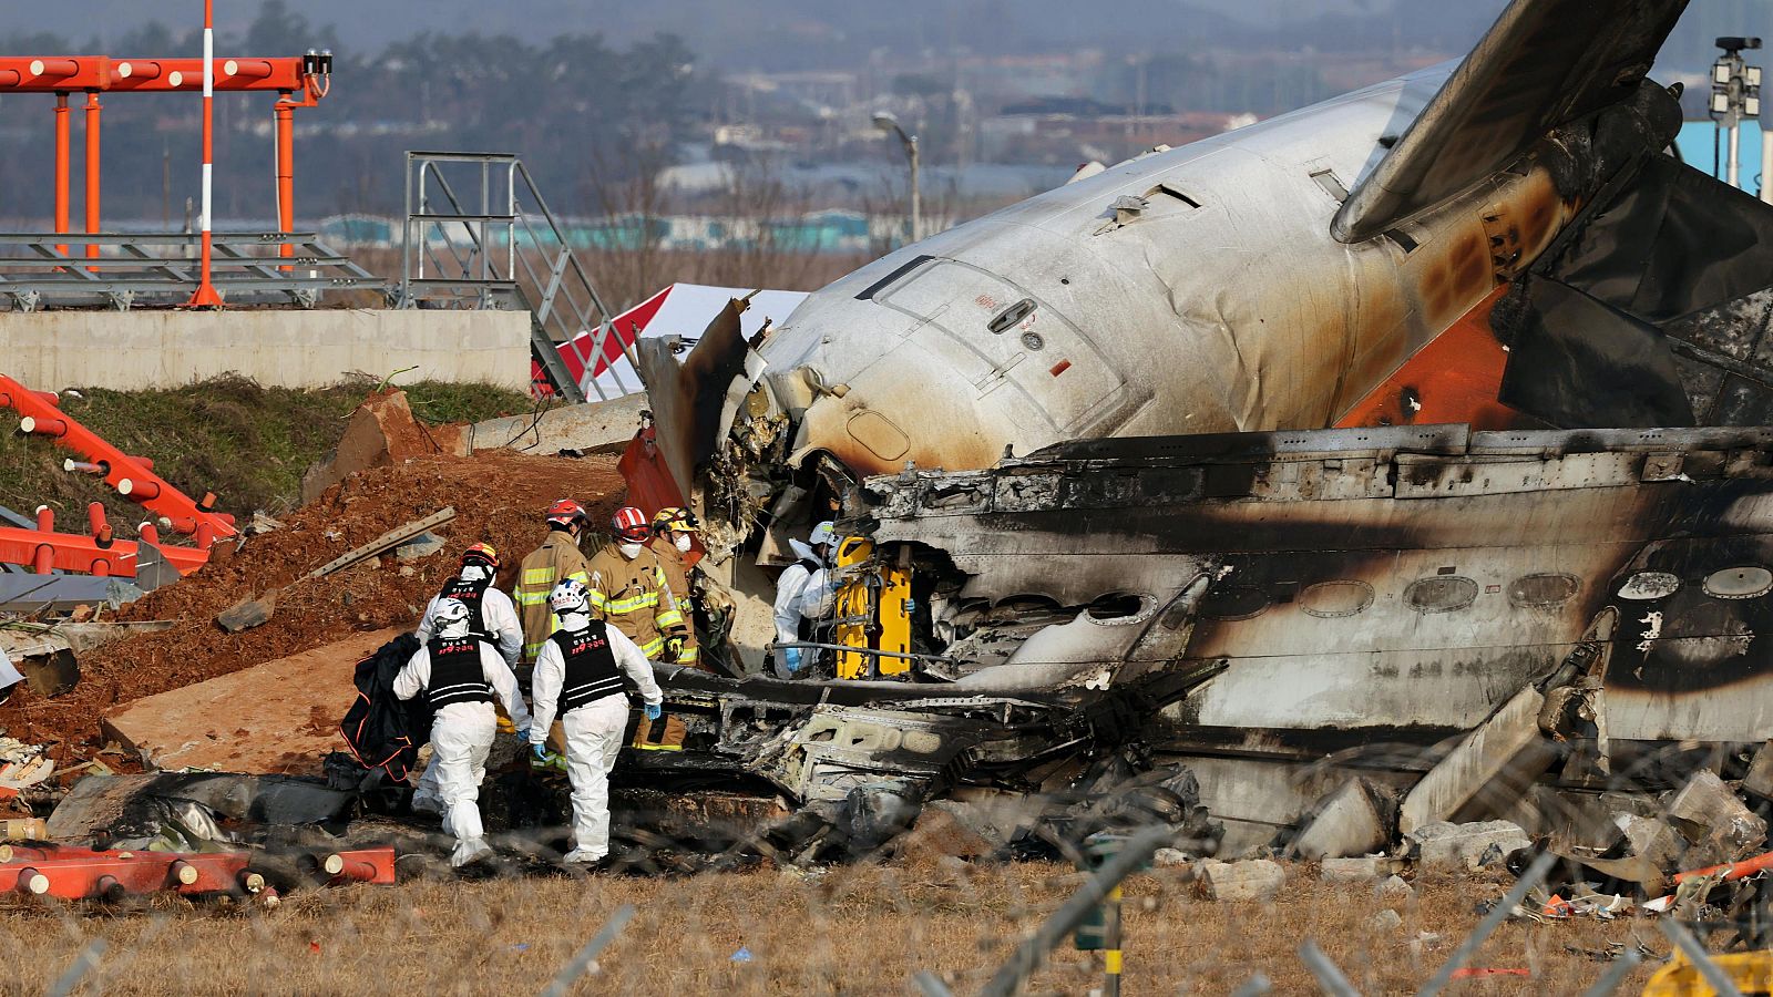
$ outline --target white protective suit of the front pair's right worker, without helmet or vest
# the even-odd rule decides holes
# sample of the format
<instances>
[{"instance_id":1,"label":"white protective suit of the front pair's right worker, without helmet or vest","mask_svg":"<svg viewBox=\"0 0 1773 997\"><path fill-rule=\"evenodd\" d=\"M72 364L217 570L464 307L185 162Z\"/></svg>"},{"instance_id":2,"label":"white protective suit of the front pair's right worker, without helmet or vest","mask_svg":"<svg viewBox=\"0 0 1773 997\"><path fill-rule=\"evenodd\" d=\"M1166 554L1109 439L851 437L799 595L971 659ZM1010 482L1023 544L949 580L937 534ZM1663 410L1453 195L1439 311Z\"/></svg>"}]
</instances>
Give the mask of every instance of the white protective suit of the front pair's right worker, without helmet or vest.
<instances>
[{"instance_id":1,"label":"white protective suit of the front pair's right worker, without helmet or vest","mask_svg":"<svg viewBox=\"0 0 1773 997\"><path fill-rule=\"evenodd\" d=\"M647 706L665 703L665 694L652 681L652 663L640 648L613 626L599 621L596 628L608 640L615 667L640 688ZM594 642L596 630L589 614L562 612L560 632L550 637L535 656L535 672L530 678L530 694L535 699L532 745L548 740L555 710L562 699L573 699L574 690L567 688L567 658L560 642L573 646L574 637L583 640L587 635ZM622 750L622 733L628 729L628 694L615 688L580 706L567 706L560 715L560 727L566 733L566 773L573 781L574 848L566 860L596 862L610 853L610 770L615 768L615 758Z\"/></svg>"}]
</instances>

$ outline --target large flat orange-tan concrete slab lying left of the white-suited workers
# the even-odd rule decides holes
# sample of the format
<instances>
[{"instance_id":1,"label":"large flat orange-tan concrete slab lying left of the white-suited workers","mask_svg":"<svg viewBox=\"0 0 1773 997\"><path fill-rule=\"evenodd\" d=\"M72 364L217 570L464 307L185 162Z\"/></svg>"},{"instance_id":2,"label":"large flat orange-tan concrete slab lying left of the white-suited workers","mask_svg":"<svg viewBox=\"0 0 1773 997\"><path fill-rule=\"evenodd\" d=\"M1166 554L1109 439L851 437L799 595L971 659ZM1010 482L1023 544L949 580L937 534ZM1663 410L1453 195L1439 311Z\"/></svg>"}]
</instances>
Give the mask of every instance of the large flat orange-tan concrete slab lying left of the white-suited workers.
<instances>
[{"instance_id":1,"label":"large flat orange-tan concrete slab lying left of the white-suited workers","mask_svg":"<svg viewBox=\"0 0 1773 997\"><path fill-rule=\"evenodd\" d=\"M137 699L105 717L105 734L165 770L324 775L344 750L339 718L353 669L402 630L378 630L209 681Z\"/></svg>"}]
</instances>

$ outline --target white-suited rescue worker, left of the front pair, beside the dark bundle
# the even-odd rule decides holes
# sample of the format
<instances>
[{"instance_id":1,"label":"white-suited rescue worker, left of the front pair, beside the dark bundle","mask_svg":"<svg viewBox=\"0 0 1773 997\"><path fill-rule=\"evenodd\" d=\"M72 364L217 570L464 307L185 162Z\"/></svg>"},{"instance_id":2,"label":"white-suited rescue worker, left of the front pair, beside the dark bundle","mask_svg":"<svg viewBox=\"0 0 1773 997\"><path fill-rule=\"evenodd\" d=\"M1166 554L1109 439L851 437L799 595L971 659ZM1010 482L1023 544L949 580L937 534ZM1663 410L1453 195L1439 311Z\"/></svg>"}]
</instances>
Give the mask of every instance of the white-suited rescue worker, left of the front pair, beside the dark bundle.
<instances>
[{"instance_id":1,"label":"white-suited rescue worker, left of the front pair, beside the dark bundle","mask_svg":"<svg viewBox=\"0 0 1773 997\"><path fill-rule=\"evenodd\" d=\"M466 866L493 852L480 827L479 804L486 754L498 733L493 697L504 703L518 736L525 740L530 711L505 658L491 642L468 632L466 605L459 600L438 600L431 619L438 633L394 678L394 695L411 699L424 694L431 703L431 750L443 800L443 830L456 837L450 866Z\"/></svg>"}]
</instances>

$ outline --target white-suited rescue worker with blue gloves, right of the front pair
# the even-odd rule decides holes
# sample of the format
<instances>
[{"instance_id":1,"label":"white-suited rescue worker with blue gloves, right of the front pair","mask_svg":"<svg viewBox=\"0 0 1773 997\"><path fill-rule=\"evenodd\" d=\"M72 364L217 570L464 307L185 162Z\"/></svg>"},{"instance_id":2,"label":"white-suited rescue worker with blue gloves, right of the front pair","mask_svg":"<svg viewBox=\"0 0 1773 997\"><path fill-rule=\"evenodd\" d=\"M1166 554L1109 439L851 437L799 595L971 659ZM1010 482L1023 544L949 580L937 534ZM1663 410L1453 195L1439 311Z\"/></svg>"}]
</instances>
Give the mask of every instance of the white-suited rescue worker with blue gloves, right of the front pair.
<instances>
[{"instance_id":1,"label":"white-suited rescue worker with blue gloves, right of the front pair","mask_svg":"<svg viewBox=\"0 0 1773 997\"><path fill-rule=\"evenodd\" d=\"M610 853L610 770L628 729L622 674L640 688L647 720L661 713L665 694L652 662L621 630L590 617L590 593L566 578L548 594L560 630L535 655L530 694L535 722L530 749L548 761L548 727L558 710L566 734L566 773L573 782L573 850L567 862L601 862Z\"/></svg>"}]
</instances>

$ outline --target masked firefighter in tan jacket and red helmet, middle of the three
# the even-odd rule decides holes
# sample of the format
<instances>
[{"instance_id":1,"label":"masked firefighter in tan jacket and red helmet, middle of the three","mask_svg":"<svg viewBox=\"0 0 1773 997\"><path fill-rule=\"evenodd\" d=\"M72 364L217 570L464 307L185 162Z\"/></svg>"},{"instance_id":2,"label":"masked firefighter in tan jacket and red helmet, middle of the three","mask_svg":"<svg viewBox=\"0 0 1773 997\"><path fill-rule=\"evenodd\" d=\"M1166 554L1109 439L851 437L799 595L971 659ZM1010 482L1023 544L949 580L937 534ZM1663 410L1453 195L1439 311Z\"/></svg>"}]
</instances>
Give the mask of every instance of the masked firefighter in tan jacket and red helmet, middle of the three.
<instances>
[{"instance_id":1,"label":"masked firefighter in tan jacket and red helmet, middle of the three","mask_svg":"<svg viewBox=\"0 0 1773 997\"><path fill-rule=\"evenodd\" d=\"M647 550L652 527L633 506L615 511L615 536L585 564L592 619L621 630L640 653L668 662L683 648L690 624L670 594L656 553Z\"/></svg>"}]
</instances>

